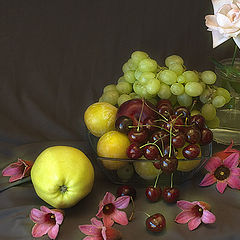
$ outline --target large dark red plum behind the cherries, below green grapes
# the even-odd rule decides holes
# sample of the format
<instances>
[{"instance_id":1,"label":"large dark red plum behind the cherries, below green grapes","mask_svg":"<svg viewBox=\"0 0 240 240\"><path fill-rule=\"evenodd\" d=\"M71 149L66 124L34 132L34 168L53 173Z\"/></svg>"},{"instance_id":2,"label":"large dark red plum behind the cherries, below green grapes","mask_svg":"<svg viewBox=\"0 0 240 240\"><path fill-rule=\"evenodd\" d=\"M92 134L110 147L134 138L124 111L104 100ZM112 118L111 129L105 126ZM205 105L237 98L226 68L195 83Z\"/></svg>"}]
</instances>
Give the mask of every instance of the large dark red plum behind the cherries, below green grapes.
<instances>
[{"instance_id":1,"label":"large dark red plum behind the cherries, below green grapes","mask_svg":"<svg viewBox=\"0 0 240 240\"><path fill-rule=\"evenodd\" d=\"M121 104L121 106L118 108L116 119L118 119L120 116L127 116L132 119L133 125L137 126L140 115L141 123L143 123L146 118L156 118L157 113L154 110L157 111L156 107L149 101L142 99L132 99Z\"/></svg>"}]
</instances>

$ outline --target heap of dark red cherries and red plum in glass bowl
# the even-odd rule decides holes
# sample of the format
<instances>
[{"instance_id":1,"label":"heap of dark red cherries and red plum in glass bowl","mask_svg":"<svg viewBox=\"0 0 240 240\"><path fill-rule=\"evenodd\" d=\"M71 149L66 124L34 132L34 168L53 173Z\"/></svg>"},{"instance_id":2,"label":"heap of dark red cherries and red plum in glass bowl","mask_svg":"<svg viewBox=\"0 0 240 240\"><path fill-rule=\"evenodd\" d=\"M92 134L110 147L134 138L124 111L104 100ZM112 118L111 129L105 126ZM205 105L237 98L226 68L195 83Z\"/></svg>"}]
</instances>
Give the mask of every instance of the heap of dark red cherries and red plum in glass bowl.
<instances>
[{"instance_id":1,"label":"heap of dark red cherries and red plum in glass bowl","mask_svg":"<svg viewBox=\"0 0 240 240\"><path fill-rule=\"evenodd\" d=\"M202 115L191 116L186 107L174 108L169 100L163 99L156 107L143 99L123 103L115 127L131 142L128 158L154 160L154 166L167 174L177 170L178 151L186 159L195 159L200 154L200 146L213 139Z\"/></svg>"}]
</instances>

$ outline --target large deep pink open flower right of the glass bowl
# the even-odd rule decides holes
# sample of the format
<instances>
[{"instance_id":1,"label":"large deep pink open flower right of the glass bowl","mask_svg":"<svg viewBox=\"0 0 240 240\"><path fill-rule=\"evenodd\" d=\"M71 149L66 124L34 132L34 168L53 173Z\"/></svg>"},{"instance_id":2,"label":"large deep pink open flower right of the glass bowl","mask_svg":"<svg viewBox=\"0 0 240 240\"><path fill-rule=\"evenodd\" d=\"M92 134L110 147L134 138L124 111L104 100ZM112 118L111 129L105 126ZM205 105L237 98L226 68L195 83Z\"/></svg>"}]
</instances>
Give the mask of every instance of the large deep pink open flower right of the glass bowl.
<instances>
[{"instance_id":1,"label":"large deep pink open flower right of the glass bowl","mask_svg":"<svg viewBox=\"0 0 240 240\"><path fill-rule=\"evenodd\" d=\"M210 158L205 169L208 173L205 175L200 186L209 186L217 182L216 188L223 193L227 185L231 188L240 189L240 168L239 153L234 152L224 160L219 157Z\"/></svg>"}]
</instances>

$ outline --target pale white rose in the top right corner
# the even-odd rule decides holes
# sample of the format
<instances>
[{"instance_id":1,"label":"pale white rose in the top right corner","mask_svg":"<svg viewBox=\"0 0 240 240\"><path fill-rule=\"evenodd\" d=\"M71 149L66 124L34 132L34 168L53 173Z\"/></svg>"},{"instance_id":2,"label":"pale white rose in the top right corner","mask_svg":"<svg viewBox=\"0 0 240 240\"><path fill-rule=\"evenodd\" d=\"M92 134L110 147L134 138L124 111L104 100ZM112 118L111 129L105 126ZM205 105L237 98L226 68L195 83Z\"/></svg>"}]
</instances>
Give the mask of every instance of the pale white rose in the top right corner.
<instances>
[{"instance_id":1,"label":"pale white rose in the top right corner","mask_svg":"<svg viewBox=\"0 0 240 240\"><path fill-rule=\"evenodd\" d=\"M240 0L212 0L214 15L207 15L206 26L212 31L213 47L233 38L240 47Z\"/></svg>"}]
</instances>

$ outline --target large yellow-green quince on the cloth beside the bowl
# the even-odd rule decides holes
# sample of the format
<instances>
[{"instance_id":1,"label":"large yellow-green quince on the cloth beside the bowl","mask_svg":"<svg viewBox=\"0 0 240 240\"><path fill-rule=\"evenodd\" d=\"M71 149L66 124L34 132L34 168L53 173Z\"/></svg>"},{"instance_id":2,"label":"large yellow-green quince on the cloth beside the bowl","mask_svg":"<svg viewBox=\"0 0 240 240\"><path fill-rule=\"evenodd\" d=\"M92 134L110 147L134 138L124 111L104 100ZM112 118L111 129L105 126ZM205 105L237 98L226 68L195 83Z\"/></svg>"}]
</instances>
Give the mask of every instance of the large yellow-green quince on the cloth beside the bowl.
<instances>
[{"instance_id":1,"label":"large yellow-green quince on the cloth beside the bowl","mask_svg":"<svg viewBox=\"0 0 240 240\"><path fill-rule=\"evenodd\" d=\"M94 169L80 150L54 146L37 157L31 169L31 180L42 200L54 208L69 208L91 192Z\"/></svg>"}]
</instances>

